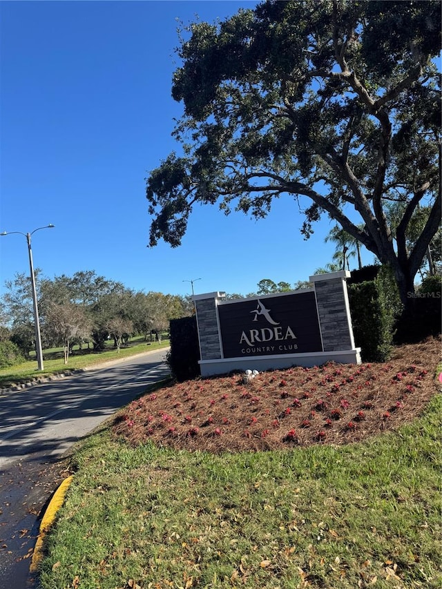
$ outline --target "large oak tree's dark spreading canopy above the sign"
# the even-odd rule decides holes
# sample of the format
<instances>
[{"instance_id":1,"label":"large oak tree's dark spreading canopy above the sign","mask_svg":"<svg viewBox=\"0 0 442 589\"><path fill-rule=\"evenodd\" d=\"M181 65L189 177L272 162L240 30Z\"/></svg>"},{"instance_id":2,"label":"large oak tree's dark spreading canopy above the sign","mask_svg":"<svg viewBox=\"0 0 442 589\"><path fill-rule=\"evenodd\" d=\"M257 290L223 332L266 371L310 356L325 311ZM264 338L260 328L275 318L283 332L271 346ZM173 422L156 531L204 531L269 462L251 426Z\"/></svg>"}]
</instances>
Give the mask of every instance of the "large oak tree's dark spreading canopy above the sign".
<instances>
[{"instance_id":1,"label":"large oak tree's dark spreading canopy above the sign","mask_svg":"<svg viewBox=\"0 0 442 589\"><path fill-rule=\"evenodd\" d=\"M406 303L441 219L439 0L266 1L184 33L182 153L146 181L150 245L179 245L195 203L262 218L289 195L306 238L329 215L390 264Z\"/></svg>"}]
</instances>

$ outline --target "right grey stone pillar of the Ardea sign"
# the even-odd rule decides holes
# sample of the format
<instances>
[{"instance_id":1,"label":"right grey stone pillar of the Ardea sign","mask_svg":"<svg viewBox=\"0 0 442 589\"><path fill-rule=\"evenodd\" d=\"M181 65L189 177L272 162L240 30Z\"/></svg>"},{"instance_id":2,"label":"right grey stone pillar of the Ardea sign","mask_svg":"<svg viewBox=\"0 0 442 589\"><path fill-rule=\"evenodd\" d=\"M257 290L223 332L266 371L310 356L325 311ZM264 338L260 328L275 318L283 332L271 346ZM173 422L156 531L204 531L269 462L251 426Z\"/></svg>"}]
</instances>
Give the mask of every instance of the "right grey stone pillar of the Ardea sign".
<instances>
[{"instance_id":1,"label":"right grey stone pillar of the Ardea sign","mask_svg":"<svg viewBox=\"0 0 442 589\"><path fill-rule=\"evenodd\" d=\"M323 336L324 351L354 348L346 278L349 272L311 276L316 291L320 331Z\"/></svg>"}]
</instances>

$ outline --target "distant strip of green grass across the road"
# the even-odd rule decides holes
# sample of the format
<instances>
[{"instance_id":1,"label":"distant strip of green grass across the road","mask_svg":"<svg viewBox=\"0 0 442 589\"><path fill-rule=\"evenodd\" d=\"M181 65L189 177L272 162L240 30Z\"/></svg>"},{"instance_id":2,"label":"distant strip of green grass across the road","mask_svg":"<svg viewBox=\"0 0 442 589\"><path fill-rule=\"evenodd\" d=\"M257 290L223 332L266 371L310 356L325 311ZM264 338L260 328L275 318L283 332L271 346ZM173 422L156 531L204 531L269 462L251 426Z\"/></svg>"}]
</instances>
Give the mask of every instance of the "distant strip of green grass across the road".
<instances>
[{"instance_id":1,"label":"distant strip of green grass across the road","mask_svg":"<svg viewBox=\"0 0 442 589\"><path fill-rule=\"evenodd\" d=\"M68 364L64 364L63 350L59 348L44 350L44 371L37 369L36 360L28 360L19 365L0 369L0 389L6 388L9 385L16 383L26 383L33 378L50 376L60 372L69 370L79 370L85 367L99 365L109 360L118 360L128 358L135 354L142 354L146 351L152 351L161 347L169 346L169 340L162 340L158 342L145 342L144 338L134 338L131 340L128 347L121 347L119 352L114 349L113 342L107 343L107 348L104 351L93 352L84 349L79 354L78 349L74 350L74 354L69 356Z\"/></svg>"}]
</instances>

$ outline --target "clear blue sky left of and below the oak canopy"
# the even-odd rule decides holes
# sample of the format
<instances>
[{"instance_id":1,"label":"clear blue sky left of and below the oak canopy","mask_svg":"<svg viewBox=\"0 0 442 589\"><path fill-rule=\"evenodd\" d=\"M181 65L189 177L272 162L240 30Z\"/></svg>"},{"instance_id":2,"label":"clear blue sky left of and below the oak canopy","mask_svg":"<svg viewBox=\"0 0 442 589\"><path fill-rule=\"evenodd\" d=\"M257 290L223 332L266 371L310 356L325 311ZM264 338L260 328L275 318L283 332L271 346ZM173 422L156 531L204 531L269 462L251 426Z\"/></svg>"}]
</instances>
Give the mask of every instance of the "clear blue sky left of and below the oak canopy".
<instances>
[{"instance_id":1,"label":"clear blue sky left of and below the oak canopy","mask_svg":"<svg viewBox=\"0 0 442 589\"><path fill-rule=\"evenodd\" d=\"M145 178L178 148L182 106L171 98L179 65L177 19L224 19L251 1L2 1L0 231L55 224L32 238L44 276L95 270L131 289L246 294L262 278L293 284L331 261L321 220L282 197L265 220L200 206L182 246L148 248ZM363 254L364 255L364 254ZM28 272L26 240L0 238L0 293ZM372 258L365 252L363 262Z\"/></svg>"}]
</instances>

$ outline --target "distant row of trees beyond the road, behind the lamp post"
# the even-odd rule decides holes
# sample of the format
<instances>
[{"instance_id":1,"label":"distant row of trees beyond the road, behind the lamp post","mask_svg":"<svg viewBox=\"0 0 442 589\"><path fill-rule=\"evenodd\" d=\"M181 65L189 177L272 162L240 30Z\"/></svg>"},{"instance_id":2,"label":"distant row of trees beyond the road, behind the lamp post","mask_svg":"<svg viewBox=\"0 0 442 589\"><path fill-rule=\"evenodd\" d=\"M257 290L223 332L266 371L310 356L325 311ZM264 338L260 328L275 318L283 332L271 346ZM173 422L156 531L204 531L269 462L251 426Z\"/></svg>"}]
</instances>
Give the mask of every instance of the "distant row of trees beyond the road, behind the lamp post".
<instances>
[{"instance_id":1,"label":"distant row of trees beyond the road, behind the lamp post","mask_svg":"<svg viewBox=\"0 0 442 589\"><path fill-rule=\"evenodd\" d=\"M160 292L133 291L122 282L79 271L73 276L44 278L37 269L37 300L44 348L64 349L65 363L74 345L104 349L113 339L115 348L131 336L161 339L169 320L192 313L189 297ZM10 340L28 357L35 348L35 327L30 278L17 273L5 282L0 298L0 340Z\"/></svg>"}]
</instances>

